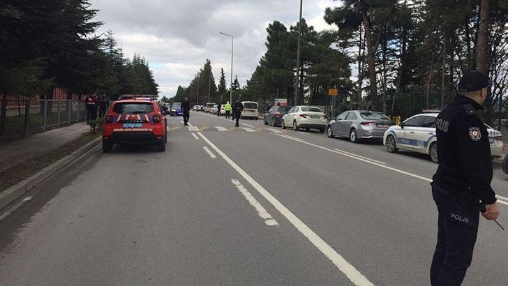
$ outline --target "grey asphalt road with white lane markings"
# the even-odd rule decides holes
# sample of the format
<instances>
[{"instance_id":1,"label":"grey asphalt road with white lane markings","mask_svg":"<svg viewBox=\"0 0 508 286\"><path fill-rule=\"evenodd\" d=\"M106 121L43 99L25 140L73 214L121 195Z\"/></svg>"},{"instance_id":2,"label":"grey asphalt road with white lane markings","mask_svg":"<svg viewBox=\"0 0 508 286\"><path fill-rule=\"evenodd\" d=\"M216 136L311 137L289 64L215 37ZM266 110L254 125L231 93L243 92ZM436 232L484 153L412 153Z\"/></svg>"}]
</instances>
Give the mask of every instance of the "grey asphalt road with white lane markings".
<instances>
[{"instance_id":1,"label":"grey asphalt road with white lane markings","mask_svg":"<svg viewBox=\"0 0 508 286\"><path fill-rule=\"evenodd\" d=\"M241 122L168 117L165 153L117 148L55 181L0 221L0 285L429 284L437 165ZM481 219L465 285L507 285L507 261Z\"/></svg>"}]
</instances>

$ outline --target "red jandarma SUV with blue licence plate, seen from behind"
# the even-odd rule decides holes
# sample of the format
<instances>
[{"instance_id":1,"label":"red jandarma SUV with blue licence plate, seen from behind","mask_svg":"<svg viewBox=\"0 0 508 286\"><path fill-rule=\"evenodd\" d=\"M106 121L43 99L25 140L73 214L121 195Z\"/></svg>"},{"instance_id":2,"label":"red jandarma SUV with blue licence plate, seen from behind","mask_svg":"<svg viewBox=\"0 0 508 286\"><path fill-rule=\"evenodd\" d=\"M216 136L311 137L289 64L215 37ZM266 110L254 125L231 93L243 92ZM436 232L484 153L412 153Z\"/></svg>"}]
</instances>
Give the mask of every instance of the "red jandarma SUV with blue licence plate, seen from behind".
<instances>
[{"instance_id":1,"label":"red jandarma SUV with blue licence plate, seen from behind","mask_svg":"<svg viewBox=\"0 0 508 286\"><path fill-rule=\"evenodd\" d=\"M157 151L166 150L167 121L163 107L150 98L115 101L105 116L103 152L117 144L155 144Z\"/></svg>"}]
</instances>

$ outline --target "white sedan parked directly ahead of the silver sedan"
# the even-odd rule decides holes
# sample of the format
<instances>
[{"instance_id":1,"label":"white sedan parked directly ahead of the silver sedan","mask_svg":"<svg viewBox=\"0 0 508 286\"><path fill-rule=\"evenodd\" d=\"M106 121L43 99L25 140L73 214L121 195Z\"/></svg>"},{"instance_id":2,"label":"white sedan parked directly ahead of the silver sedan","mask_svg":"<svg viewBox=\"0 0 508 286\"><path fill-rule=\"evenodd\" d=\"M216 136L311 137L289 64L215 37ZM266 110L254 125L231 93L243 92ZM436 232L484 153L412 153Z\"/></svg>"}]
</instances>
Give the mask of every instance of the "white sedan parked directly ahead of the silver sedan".
<instances>
[{"instance_id":1,"label":"white sedan parked directly ahead of the silver sedan","mask_svg":"<svg viewBox=\"0 0 508 286\"><path fill-rule=\"evenodd\" d=\"M294 106L282 117L283 129L292 126L293 130L315 128L324 132L327 123L328 116L318 107L313 106Z\"/></svg>"}]
</instances>

